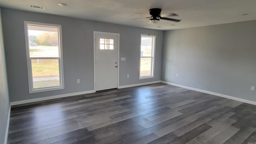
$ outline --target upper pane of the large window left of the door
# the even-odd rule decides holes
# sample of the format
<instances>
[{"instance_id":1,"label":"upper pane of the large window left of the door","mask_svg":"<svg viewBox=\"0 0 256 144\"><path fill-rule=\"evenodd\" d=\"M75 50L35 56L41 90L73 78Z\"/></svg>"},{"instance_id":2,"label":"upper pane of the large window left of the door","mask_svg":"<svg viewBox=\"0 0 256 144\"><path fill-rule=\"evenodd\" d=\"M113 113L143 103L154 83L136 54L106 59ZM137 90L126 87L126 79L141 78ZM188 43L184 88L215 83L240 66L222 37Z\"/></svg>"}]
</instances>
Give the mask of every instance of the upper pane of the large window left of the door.
<instances>
[{"instance_id":1,"label":"upper pane of the large window left of the door","mask_svg":"<svg viewBox=\"0 0 256 144\"><path fill-rule=\"evenodd\" d=\"M59 57L58 28L28 25L30 57Z\"/></svg>"}]
</instances>

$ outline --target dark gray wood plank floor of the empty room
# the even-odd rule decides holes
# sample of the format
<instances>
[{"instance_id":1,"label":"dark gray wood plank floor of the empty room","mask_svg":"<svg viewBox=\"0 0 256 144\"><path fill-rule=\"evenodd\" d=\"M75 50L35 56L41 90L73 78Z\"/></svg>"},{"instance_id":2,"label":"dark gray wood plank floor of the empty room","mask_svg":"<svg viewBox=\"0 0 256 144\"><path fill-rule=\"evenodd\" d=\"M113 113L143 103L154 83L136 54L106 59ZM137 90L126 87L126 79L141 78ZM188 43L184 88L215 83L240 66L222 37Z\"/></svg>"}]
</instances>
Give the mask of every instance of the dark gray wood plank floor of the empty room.
<instances>
[{"instance_id":1,"label":"dark gray wood plank floor of the empty room","mask_svg":"<svg viewBox=\"0 0 256 144\"><path fill-rule=\"evenodd\" d=\"M9 144L254 144L256 106L162 83L12 107Z\"/></svg>"}]
</instances>

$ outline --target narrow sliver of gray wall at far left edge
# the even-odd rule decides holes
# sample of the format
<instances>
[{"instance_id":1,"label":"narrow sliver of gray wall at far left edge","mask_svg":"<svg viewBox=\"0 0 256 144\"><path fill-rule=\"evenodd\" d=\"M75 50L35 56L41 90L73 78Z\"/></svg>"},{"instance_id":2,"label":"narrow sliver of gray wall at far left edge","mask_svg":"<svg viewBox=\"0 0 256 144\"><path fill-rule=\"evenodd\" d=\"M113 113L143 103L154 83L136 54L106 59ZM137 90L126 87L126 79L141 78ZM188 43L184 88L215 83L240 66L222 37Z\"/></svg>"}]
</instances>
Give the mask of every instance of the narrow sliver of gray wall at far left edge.
<instances>
[{"instance_id":1,"label":"narrow sliver of gray wall at far left edge","mask_svg":"<svg viewBox=\"0 0 256 144\"><path fill-rule=\"evenodd\" d=\"M1 12L0 12L1 14ZM2 34L2 21L0 18L0 144L4 144L4 137L6 132L6 125L9 116L9 95L8 84L6 76L6 65L4 58L4 41ZM7 104L5 103L5 99Z\"/></svg>"}]
</instances>

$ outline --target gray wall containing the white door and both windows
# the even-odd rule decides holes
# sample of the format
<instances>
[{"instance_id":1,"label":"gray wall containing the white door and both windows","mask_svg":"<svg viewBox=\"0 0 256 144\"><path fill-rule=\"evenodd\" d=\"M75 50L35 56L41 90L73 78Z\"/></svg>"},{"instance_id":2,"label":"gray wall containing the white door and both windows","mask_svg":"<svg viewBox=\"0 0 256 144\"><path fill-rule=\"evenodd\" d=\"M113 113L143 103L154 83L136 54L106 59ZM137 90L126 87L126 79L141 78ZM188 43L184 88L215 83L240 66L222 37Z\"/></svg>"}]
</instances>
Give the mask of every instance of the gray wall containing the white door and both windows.
<instances>
[{"instance_id":1,"label":"gray wall containing the white door and both windows","mask_svg":"<svg viewBox=\"0 0 256 144\"><path fill-rule=\"evenodd\" d=\"M64 90L28 93L24 20L62 25ZM11 102L93 90L93 31L120 34L120 57L126 57L120 61L120 86L161 79L163 31L157 36L157 30L150 30L156 35L155 76L139 80L140 34L148 34L148 29L8 8L2 8L2 22Z\"/></svg>"}]
</instances>

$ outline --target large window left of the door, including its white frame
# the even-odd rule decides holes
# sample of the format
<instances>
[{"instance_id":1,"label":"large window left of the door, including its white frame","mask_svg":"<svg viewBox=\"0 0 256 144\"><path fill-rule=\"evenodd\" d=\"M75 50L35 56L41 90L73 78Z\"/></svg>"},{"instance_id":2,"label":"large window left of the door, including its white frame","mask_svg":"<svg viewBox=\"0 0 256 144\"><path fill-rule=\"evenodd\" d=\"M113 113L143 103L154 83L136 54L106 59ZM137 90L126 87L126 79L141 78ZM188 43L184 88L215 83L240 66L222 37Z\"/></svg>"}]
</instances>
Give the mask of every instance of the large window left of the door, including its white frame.
<instances>
[{"instance_id":1,"label":"large window left of the door, including its white frame","mask_svg":"<svg viewBox=\"0 0 256 144\"><path fill-rule=\"evenodd\" d=\"M24 21L29 93L64 89L61 25Z\"/></svg>"}]
</instances>

